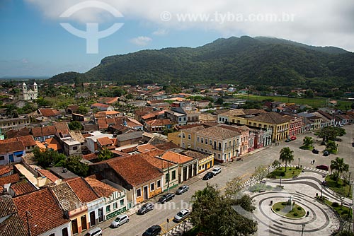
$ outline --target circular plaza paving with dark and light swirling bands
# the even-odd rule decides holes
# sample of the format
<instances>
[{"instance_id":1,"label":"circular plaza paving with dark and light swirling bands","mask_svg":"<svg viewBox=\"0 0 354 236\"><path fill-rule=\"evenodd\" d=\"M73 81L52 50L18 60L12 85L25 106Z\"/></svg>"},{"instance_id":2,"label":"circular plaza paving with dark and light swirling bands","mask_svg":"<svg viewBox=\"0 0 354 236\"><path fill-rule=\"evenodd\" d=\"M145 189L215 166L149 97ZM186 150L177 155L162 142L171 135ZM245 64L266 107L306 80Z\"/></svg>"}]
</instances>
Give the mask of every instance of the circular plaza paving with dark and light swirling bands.
<instances>
[{"instance_id":1,"label":"circular plaza paving with dark and light swirling bands","mask_svg":"<svg viewBox=\"0 0 354 236\"><path fill-rule=\"evenodd\" d=\"M256 235L302 235L303 225L303 235L331 235L338 230L340 221L336 214L329 206L316 201L316 193L321 194L323 180L323 173L304 172L297 179L283 179L280 188L279 179L266 179L268 190L250 194L256 205L253 216L258 221ZM329 201L341 202L330 189L322 189L322 194ZM290 196L306 212L309 211L308 216L292 219L272 211L270 201L287 201ZM350 199L344 202L346 205L349 203Z\"/></svg>"}]
</instances>

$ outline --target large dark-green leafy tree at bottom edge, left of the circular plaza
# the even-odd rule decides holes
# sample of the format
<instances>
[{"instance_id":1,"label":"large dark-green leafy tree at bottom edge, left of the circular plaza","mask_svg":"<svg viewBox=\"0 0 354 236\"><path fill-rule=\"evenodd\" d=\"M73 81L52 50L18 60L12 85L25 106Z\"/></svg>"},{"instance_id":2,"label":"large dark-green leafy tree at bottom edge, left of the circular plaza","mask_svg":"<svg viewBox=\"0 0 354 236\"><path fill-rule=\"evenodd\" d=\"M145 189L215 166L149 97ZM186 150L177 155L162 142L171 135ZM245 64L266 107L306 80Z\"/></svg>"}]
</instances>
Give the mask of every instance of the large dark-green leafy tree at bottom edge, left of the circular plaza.
<instances>
[{"instance_id":1,"label":"large dark-green leafy tree at bottom edge, left of the circular plaza","mask_svg":"<svg viewBox=\"0 0 354 236\"><path fill-rule=\"evenodd\" d=\"M192 199L190 221L204 235L253 235L257 230L256 221L245 217L245 212L254 210L249 196L229 199L207 184L205 189L196 191Z\"/></svg>"}]
</instances>

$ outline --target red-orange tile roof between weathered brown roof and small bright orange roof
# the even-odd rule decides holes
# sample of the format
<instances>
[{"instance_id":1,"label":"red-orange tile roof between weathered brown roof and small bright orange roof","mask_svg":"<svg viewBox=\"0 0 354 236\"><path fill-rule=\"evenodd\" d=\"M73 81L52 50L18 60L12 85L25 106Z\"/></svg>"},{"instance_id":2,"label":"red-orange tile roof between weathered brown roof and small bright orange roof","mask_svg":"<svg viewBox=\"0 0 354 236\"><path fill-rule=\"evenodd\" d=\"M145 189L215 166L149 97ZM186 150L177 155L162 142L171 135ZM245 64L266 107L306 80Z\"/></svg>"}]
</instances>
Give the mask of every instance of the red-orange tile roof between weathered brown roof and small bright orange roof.
<instances>
[{"instance_id":1,"label":"red-orange tile roof between weathered brown roof and small bright orange roof","mask_svg":"<svg viewBox=\"0 0 354 236\"><path fill-rule=\"evenodd\" d=\"M90 202L98 199L98 195L91 189L84 178L78 177L67 180L67 183L72 188L76 196L81 202Z\"/></svg>"}]
</instances>

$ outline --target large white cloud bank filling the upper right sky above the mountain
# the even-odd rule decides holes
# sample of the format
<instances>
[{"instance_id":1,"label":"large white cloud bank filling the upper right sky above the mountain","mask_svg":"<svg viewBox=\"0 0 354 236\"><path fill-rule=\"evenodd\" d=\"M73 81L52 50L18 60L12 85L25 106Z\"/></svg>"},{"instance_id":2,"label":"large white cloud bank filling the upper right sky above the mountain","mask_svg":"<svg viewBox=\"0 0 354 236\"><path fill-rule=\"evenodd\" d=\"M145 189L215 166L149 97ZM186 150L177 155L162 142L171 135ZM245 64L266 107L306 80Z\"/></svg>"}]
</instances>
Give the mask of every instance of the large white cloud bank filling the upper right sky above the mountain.
<instances>
[{"instance_id":1,"label":"large white cloud bank filling the upper right sky above the mountain","mask_svg":"<svg viewBox=\"0 0 354 236\"><path fill-rule=\"evenodd\" d=\"M47 18L59 19L61 13L79 0L25 0L38 6ZM101 0L120 11L127 20L154 23L166 30L213 30L222 35L269 35L311 45L333 45L354 51L353 0ZM166 15L166 12L171 13ZM164 15L161 15L164 13ZM181 20L178 14L194 14ZM250 20L249 16L265 14L294 15L294 20L269 22ZM198 15L199 14L199 15ZM201 15L204 14L204 15ZM219 15L218 15L219 14ZM162 19L161 19L162 16ZM167 18L166 18L167 16ZM190 15L191 16L191 15ZM200 18L200 16L203 16ZM208 19L205 16L209 16ZM242 16L245 20L232 20ZM199 17L199 18L198 18ZM224 19L224 20L222 20ZM102 9L87 9L74 13L72 20L85 22L112 22L116 20ZM96 21L93 21L96 20ZM118 20L119 21L119 20Z\"/></svg>"}]
</instances>

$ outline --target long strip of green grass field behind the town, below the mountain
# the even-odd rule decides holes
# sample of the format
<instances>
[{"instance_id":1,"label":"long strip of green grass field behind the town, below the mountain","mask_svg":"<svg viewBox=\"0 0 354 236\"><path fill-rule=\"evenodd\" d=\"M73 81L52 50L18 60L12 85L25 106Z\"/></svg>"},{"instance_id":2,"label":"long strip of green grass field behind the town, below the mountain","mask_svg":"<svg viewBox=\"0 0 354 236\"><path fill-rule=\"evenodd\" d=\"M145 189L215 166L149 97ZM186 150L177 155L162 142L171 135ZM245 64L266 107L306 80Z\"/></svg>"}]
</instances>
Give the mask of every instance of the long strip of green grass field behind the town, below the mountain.
<instances>
[{"instance_id":1,"label":"long strip of green grass field behind the town, below the mountain","mask_svg":"<svg viewBox=\"0 0 354 236\"><path fill-rule=\"evenodd\" d=\"M235 98L241 98L241 99L247 99L247 95L237 95ZM249 100L253 101L259 101L261 102L262 100L265 99L273 99L275 102L290 102L290 103L295 103L295 104L302 104L302 105L309 105L312 107L326 107L326 100L328 98L287 98L287 97L280 97L280 96L258 96L258 95L249 95ZM329 99L333 100L333 99ZM346 105L350 107L352 102L350 101L341 101L341 100L336 100L338 101L339 104L339 109L344 109Z\"/></svg>"}]
</instances>

